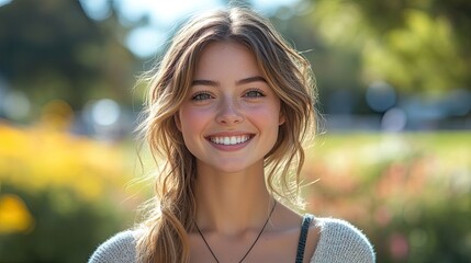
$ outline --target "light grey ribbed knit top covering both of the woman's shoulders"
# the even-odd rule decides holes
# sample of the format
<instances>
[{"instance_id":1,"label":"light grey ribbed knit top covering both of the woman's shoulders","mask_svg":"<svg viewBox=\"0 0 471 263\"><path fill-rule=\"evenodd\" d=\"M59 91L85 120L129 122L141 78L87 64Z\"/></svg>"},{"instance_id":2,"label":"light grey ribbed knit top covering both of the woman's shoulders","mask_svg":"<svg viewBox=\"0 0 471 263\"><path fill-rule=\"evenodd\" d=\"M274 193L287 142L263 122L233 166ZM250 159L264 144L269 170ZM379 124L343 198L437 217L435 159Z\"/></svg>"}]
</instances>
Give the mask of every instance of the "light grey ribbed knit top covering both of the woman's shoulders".
<instances>
[{"instance_id":1,"label":"light grey ribbed knit top covering both of the woman's shoulders","mask_svg":"<svg viewBox=\"0 0 471 263\"><path fill-rule=\"evenodd\" d=\"M371 243L349 222L334 218L315 218L321 237L311 263L373 263ZM136 263L136 231L127 230L102 243L89 263ZM295 259L293 259L294 262Z\"/></svg>"}]
</instances>

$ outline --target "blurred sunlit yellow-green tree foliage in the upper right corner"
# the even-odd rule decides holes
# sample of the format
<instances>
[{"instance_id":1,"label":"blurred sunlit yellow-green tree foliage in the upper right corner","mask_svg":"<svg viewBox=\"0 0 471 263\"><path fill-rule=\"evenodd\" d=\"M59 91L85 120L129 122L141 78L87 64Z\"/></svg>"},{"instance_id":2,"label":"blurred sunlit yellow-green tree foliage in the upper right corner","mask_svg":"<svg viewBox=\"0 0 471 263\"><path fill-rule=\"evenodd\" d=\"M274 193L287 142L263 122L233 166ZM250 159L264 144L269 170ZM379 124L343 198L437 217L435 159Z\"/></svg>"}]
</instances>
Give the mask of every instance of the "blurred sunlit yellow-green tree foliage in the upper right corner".
<instances>
[{"instance_id":1,"label":"blurred sunlit yellow-green tree foliage in the upper right corner","mask_svg":"<svg viewBox=\"0 0 471 263\"><path fill-rule=\"evenodd\" d=\"M363 84L382 80L426 94L471 89L471 2L306 2L313 7L307 23L322 42L334 53L359 55L351 69L360 69Z\"/></svg>"}]
</instances>

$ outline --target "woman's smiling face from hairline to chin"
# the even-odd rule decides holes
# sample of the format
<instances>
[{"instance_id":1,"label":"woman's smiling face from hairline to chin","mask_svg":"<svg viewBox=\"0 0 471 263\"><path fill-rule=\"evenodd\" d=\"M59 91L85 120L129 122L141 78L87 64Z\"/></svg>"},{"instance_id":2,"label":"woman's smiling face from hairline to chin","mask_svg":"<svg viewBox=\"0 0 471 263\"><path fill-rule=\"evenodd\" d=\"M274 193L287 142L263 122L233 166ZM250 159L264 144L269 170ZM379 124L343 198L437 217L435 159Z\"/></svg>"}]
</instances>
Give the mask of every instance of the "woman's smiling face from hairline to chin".
<instances>
[{"instance_id":1,"label":"woman's smiling face from hairline to chin","mask_svg":"<svg viewBox=\"0 0 471 263\"><path fill-rule=\"evenodd\" d=\"M202 50L176 116L200 168L232 173L262 164L283 122L280 99L245 46L221 42Z\"/></svg>"}]
</instances>

